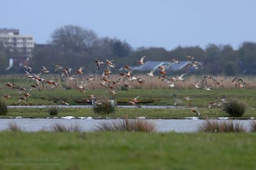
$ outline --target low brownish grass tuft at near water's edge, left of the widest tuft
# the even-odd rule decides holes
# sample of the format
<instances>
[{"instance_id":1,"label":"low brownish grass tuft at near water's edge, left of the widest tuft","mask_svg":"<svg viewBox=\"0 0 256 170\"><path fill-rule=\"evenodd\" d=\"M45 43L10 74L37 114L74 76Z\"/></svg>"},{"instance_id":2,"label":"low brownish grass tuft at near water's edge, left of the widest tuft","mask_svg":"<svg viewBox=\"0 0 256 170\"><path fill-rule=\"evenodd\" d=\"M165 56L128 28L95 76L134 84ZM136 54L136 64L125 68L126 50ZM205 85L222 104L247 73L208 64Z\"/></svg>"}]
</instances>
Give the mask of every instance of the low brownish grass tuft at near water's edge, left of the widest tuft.
<instances>
[{"instance_id":1,"label":"low brownish grass tuft at near water's edge, left of the widest tuft","mask_svg":"<svg viewBox=\"0 0 256 170\"><path fill-rule=\"evenodd\" d=\"M65 124L55 123L55 124L52 124L51 127L49 127L49 131L51 131L51 132L81 132L82 128L81 128L81 125L79 125L79 124L65 125Z\"/></svg>"}]
</instances>

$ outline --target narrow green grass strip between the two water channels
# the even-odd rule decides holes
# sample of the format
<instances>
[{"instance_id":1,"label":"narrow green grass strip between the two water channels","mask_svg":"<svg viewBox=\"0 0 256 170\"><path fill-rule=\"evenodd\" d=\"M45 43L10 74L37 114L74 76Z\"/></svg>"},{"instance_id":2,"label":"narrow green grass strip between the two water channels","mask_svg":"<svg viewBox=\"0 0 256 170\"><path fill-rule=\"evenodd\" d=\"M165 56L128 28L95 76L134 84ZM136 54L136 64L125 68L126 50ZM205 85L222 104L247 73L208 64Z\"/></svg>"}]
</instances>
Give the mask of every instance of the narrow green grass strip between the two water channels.
<instances>
[{"instance_id":1,"label":"narrow green grass strip between the two water channels","mask_svg":"<svg viewBox=\"0 0 256 170\"><path fill-rule=\"evenodd\" d=\"M117 108L116 113L110 113L108 115L97 115L93 113L92 108L61 108L57 116L50 116L49 109L47 108L10 108L7 115L1 115L0 117L33 117L33 118L45 118L45 117L93 117L93 118L185 118L185 117L197 117L197 115L191 112L191 109L143 109L143 108ZM199 108L201 113L200 118L216 118L216 117L229 117L227 113L221 109L205 109ZM242 118L256 117L256 108L248 108Z\"/></svg>"}]
</instances>

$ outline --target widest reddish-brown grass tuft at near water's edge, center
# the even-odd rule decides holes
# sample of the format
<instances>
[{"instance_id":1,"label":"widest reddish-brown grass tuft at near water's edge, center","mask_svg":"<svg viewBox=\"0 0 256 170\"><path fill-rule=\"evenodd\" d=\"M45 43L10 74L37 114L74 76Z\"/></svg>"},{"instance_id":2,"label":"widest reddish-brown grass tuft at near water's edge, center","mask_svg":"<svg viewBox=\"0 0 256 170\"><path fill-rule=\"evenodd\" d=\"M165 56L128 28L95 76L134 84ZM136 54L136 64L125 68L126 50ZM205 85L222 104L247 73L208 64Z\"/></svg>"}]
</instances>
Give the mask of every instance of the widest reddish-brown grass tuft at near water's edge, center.
<instances>
[{"instance_id":1,"label":"widest reddish-brown grass tuft at near water's edge, center","mask_svg":"<svg viewBox=\"0 0 256 170\"><path fill-rule=\"evenodd\" d=\"M154 132L156 131L156 124L148 120L115 120L111 122L100 122L93 129L94 131L132 131L132 132Z\"/></svg>"}]
</instances>

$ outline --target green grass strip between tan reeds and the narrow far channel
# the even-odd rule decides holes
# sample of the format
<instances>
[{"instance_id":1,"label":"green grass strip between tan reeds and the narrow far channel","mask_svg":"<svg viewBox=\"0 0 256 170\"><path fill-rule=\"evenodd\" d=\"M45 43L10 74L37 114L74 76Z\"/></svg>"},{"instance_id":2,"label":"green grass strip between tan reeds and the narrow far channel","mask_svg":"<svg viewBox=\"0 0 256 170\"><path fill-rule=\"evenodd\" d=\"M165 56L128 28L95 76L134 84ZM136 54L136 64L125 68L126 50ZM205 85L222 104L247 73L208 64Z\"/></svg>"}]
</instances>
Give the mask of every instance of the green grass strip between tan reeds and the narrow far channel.
<instances>
[{"instance_id":1,"label":"green grass strip between tan reeds and the narrow far channel","mask_svg":"<svg viewBox=\"0 0 256 170\"><path fill-rule=\"evenodd\" d=\"M17 90L0 89L0 96L10 94L11 99L7 100L8 105L19 105L19 93ZM191 102L184 102L184 106L199 106L207 107L210 101L214 101L216 97L234 98L237 97L246 101L248 106L256 107L256 90L255 89L214 89L207 92L202 89L170 89L170 90L118 90L116 96L110 96L105 90L88 90L87 94L78 92L77 90L42 90L33 91L32 97L29 97L28 102L22 101L22 105L51 105L60 104L59 101L66 101L70 104L77 104L76 101L81 101L88 98L90 94L95 97L109 97L116 99L117 102L124 102L133 99L136 96L141 96L139 101L150 102L149 105L173 105L175 99L183 99L185 96L191 97Z\"/></svg>"}]
</instances>

